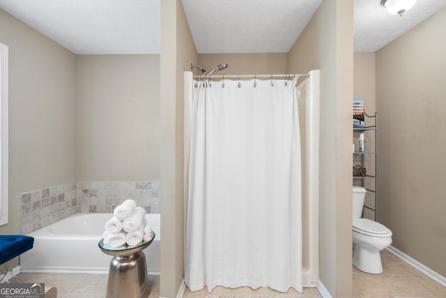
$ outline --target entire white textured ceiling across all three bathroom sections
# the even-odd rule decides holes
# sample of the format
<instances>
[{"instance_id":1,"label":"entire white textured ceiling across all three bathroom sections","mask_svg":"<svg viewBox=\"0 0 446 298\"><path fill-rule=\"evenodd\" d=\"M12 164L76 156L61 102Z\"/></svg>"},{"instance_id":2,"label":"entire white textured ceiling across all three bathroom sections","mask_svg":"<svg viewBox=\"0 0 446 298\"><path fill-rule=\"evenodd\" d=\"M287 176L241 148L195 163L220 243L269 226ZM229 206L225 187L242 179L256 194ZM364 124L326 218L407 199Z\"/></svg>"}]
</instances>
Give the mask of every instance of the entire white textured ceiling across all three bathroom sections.
<instances>
[{"instance_id":1,"label":"entire white textured ceiling across all three bathroom sections","mask_svg":"<svg viewBox=\"0 0 446 298\"><path fill-rule=\"evenodd\" d=\"M0 8L75 54L159 54L163 0L0 0ZM332 1L332 0L325 0ZM322 0L183 0L199 53L288 52ZM354 0L355 52L374 52L446 0L417 0L402 17Z\"/></svg>"}]
</instances>

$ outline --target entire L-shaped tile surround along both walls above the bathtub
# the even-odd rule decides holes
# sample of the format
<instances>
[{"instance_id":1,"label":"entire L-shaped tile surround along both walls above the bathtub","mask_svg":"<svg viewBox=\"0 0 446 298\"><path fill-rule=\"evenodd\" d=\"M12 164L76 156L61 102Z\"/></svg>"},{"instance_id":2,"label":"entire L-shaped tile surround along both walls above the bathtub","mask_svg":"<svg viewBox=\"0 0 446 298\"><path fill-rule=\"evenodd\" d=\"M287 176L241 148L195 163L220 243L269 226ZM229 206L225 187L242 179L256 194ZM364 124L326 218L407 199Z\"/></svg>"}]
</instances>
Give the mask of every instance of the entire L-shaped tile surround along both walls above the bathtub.
<instances>
[{"instance_id":1,"label":"entire L-shaped tile surround along both walls above the bathtub","mask_svg":"<svg viewBox=\"0 0 446 298\"><path fill-rule=\"evenodd\" d=\"M77 212L110 212L127 199L160 213L159 181L77 181L20 195L22 234Z\"/></svg>"}]
</instances>

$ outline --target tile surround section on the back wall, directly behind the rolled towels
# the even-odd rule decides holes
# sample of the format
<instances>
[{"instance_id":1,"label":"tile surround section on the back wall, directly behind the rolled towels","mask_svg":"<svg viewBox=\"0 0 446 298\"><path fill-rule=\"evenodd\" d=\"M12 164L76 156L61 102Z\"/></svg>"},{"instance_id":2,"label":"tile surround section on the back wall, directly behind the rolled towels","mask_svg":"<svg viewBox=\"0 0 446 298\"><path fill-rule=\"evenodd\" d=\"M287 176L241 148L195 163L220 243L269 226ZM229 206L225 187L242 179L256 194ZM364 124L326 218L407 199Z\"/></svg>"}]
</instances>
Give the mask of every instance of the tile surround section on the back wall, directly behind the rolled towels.
<instances>
[{"instance_id":1,"label":"tile surround section on the back wall, directly behind the rolled towels","mask_svg":"<svg viewBox=\"0 0 446 298\"><path fill-rule=\"evenodd\" d=\"M78 181L79 212L113 212L127 199L147 213L160 213L159 181Z\"/></svg>"}]
</instances>

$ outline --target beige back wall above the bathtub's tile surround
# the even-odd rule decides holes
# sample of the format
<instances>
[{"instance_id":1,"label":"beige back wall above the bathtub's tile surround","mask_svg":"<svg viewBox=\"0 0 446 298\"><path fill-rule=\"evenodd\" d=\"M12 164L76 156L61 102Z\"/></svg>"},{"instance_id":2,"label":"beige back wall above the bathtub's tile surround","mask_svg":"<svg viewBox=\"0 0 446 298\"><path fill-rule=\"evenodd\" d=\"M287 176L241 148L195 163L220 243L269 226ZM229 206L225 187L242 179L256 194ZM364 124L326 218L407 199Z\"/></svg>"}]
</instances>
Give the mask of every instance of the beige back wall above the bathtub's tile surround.
<instances>
[{"instance_id":1,"label":"beige back wall above the bathtub's tile surround","mask_svg":"<svg viewBox=\"0 0 446 298\"><path fill-rule=\"evenodd\" d=\"M77 56L76 91L77 179L159 180L160 56Z\"/></svg>"}]
</instances>

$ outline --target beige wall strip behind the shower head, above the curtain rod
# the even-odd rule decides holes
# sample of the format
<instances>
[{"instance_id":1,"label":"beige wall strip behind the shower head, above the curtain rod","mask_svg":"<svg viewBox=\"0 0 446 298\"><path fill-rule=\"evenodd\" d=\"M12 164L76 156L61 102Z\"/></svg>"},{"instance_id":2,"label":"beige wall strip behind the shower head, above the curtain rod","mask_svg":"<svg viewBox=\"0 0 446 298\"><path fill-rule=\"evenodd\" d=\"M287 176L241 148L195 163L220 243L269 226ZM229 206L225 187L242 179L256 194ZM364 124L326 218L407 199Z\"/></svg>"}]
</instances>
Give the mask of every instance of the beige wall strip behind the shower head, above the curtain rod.
<instances>
[{"instance_id":1,"label":"beige wall strip behind the shower head, above the curtain rod","mask_svg":"<svg viewBox=\"0 0 446 298\"><path fill-rule=\"evenodd\" d=\"M251 53L251 54L199 54L199 65L208 72L218 64L229 65L215 75L253 75L285 73L286 53ZM194 70L201 75L201 71Z\"/></svg>"}]
</instances>

